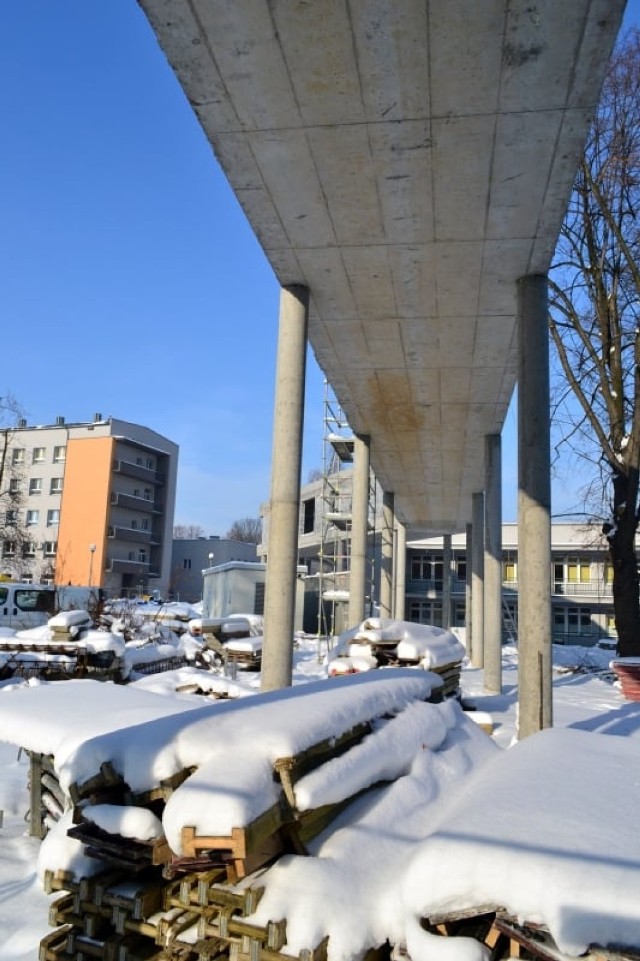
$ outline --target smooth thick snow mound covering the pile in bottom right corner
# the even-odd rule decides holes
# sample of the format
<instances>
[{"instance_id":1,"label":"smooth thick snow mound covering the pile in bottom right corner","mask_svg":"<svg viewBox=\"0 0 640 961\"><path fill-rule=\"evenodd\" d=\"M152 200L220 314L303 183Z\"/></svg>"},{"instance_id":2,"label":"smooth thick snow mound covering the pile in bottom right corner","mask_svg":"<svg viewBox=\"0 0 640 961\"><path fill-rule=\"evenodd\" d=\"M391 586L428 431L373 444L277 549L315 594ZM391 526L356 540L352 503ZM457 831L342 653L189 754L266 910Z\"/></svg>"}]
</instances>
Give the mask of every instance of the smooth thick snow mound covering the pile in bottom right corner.
<instances>
[{"instance_id":1,"label":"smooth thick snow mound covering the pile in bottom right corner","mask_svg":"<svg viewBox=\"0 0 640 961\"><path fill-rule=\"evenodd\" d=\"M417 917L495 904L546 925L570 955L638 947L640 834L624 825L637 818L639 772L637 740L569 729L527 738L441 809L403 899Z\"/></svg>"}]
</instances>

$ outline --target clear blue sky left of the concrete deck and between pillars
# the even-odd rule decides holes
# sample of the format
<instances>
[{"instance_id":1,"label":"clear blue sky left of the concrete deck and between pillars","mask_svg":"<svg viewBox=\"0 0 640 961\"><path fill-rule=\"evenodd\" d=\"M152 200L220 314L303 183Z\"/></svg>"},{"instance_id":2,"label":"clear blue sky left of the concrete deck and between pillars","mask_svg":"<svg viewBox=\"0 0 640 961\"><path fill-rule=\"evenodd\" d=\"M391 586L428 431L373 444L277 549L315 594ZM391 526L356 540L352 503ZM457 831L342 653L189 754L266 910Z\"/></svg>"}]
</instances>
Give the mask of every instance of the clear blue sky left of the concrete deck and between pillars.
<instances>
[{"instance_id":1,"label":"clear blue sky left of the concrete deck and between pillars","mask_svg":"<svg viewBox=\"0 0 640 961\"><path fill-rule=\"evenodd\" d=\"M224 534L268 497L275 278L135 0L21 0L1 25L0 394L31 424L100 412L170 437L176 521ZM322 398L311 359L303 480Z\"/></svg>"}]
</instances>

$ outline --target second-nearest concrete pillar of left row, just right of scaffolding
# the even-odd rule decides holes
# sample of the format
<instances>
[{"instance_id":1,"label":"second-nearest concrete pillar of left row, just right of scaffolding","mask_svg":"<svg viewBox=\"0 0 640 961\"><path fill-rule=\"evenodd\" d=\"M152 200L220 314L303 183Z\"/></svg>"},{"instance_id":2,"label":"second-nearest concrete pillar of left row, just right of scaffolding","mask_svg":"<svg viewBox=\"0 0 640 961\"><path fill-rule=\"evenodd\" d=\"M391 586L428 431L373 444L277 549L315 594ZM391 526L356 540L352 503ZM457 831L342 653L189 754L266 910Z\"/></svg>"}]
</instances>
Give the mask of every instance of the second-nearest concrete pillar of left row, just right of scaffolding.
<instances>
[{"instance_id":1,"label":"second-nearest concrete pillar of left row, just right of scaffolding","mask_svg":"<svg viewBox=\"0 0 640 961\"><path fill-rule=\"evenodd\" d=\"M349 627L365 618L367 593L367 541L369 534L369 438L355 438L351 495L351 574L349 577Z\"/></svg>"}]
</instances>

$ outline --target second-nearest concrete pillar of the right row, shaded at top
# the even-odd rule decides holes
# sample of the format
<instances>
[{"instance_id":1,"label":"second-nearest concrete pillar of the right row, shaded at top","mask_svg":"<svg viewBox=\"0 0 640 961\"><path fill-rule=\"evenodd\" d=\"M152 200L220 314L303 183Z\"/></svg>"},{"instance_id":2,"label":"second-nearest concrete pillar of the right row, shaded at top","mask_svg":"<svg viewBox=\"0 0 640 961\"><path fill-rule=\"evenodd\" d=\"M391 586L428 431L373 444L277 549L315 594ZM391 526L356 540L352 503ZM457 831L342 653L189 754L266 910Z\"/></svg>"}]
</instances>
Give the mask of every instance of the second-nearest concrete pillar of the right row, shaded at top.
<instances>
[{"instance_id":1,"label":"second-nearest concrete pillar of the right row, shaded at top","mask_svg":"<svg viewBox=\"0 0 640 961\"><path fill-rule=\"evenodd\" d=\"M484 689L502 691L502 442L485 437Z\"/></svg>"}]
</instances>

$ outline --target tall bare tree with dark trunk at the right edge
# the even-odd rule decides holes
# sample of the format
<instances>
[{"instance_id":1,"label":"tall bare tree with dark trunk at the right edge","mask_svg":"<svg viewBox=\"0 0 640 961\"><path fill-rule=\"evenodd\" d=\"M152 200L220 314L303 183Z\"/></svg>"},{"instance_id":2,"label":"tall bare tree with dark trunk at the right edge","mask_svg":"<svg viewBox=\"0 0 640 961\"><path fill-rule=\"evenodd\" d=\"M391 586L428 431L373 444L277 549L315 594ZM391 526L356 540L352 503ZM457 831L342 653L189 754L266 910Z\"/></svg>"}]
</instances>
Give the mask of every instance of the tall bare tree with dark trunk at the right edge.
<instances>
[{"instance_id":1,"label":"tall bare tree with dark trunk at the right edge","mask_svg":"<svg viewBox=\"0 0 640 961\"><path fill-rule=\"evenodd\" d=\"M640 655L640 31L612 57L550 277L561 441L602 478L618 653Z\"/></svg>"}]
</instances>

